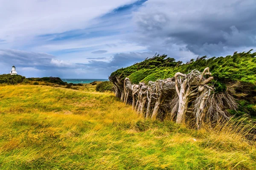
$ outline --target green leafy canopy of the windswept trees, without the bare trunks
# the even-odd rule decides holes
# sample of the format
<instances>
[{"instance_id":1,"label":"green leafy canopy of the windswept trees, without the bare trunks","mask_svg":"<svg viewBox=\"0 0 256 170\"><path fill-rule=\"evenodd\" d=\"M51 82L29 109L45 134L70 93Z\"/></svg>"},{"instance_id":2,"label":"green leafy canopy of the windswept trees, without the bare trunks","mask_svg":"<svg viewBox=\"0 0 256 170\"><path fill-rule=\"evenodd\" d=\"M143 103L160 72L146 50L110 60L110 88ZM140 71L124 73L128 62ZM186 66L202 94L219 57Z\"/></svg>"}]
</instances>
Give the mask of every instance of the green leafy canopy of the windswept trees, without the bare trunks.
<instances>
[{"instance_id":1,"label":"green leafy canopy of the windswept trees, without the bare trunks","mask_svg":"<svg viewBox=\"0 0 256 170\"><path fill-rule=\"evenodd\" d=\"M128 77L132 83L156 81L174 77L175 73L189 73L193 69L203 71L209 67L214 77L212 84L215 92L227 90L227 85L238 82L235 96L239 103L239 111L236 114L249 113L256 116L256 53L248 52L237 53L227 57L198 57L191 59L187 63L175 61L167 55L155 55L150 59L136 63L127 68L121 68L113 72L111 76L121 79ZM230 113L235 113L230 111Z\"/></svg>"}]
</instances>

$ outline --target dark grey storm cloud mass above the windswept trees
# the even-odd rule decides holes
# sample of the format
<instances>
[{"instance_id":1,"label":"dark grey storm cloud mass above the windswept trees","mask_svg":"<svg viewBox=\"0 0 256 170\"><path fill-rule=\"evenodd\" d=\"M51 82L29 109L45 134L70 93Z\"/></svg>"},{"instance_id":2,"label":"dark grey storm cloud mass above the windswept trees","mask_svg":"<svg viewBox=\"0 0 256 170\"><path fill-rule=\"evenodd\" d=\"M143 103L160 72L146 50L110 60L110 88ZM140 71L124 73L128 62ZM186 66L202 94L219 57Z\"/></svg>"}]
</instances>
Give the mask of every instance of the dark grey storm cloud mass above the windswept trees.
<instances>
[{"instance_id":1,"label":"dark grey storm cloud mass above the windswept trees","mask_svg":"<svg viewBox=\"0 0 256 170\"><path fill-rule=\"evenodd\" d=\"M173 44L197 55L220 55L256 47L255 0L151 0L134 13L134 40L152 51ZM154 45L151 42L161 43ZM169 48L169 50L168 50Z\"/></svg>"}]
</instances>

